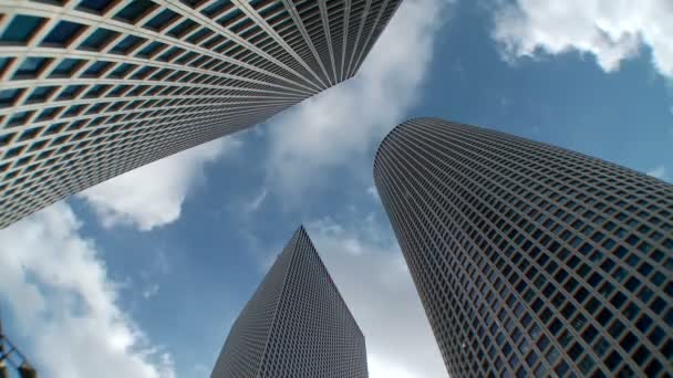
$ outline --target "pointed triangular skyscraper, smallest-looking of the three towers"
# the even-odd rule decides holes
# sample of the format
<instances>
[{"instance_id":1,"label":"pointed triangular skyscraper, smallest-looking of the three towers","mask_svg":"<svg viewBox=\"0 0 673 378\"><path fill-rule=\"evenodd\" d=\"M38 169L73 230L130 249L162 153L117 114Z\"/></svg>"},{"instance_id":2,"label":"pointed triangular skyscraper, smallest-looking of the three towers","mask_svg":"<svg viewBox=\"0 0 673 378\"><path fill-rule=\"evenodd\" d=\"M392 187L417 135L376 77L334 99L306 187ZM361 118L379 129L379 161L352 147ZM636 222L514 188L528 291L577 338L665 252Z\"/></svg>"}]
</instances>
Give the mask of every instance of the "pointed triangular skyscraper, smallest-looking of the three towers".
<instances>
[{"instance_id":1,"label":"pointed triangular skyscraper, smallest-looking of the three towers","mask_svg":"<svg viewBox=\"0 0 673 378\"><path fill-rule=\"evenodd\" d=\"M231 326L210 377L367 377L364 336L303 228Z\"/></svg>"}]
</instances>

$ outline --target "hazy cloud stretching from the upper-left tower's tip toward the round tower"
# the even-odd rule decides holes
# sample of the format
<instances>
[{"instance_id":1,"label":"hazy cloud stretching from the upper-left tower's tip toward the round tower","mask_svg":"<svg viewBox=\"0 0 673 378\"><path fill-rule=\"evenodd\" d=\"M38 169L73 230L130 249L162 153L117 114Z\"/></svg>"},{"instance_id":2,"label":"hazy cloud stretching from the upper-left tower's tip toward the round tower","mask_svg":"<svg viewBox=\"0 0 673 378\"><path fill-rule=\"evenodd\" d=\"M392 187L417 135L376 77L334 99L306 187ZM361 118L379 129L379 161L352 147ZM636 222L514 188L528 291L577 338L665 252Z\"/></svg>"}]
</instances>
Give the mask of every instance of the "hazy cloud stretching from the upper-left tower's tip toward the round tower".
<instances>
[{"instance_id":1,"label":"hazy cloud stretching from the upper-left tower's tip toward the round tower","mask_svg":"<svg viewBox=\"0 0 673 378\"><path fill-rule=\"evenodd\" d=\"M420 98L446 0L405 0L360 73L279 116L269 127L269 179L288 195L324 179L327 168L362 159ZM371 172L371 161L362 165Z\"/></svg>"}]
</instances>

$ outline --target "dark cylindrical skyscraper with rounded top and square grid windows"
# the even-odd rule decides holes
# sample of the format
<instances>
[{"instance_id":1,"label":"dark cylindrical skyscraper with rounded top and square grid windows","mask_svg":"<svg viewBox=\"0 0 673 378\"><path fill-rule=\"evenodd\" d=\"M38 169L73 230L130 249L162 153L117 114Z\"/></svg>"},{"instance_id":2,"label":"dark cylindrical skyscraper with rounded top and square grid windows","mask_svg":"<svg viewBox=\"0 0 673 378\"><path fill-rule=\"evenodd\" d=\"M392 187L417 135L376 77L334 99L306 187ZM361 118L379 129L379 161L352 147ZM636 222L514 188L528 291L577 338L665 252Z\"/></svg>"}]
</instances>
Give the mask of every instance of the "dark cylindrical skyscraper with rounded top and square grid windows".
<instances>
[{"instance_id":1,"label":"dark cylindrical skyscraper with rounded top and square grid windows","mask_svg":"<svg viewBox=\"0 0 673 378\"><path fill-rule=\"evenodd\" d=\"M431 118L374 179L452 376L673 372L673 186Z\"/></svg>"}]
</instances>

